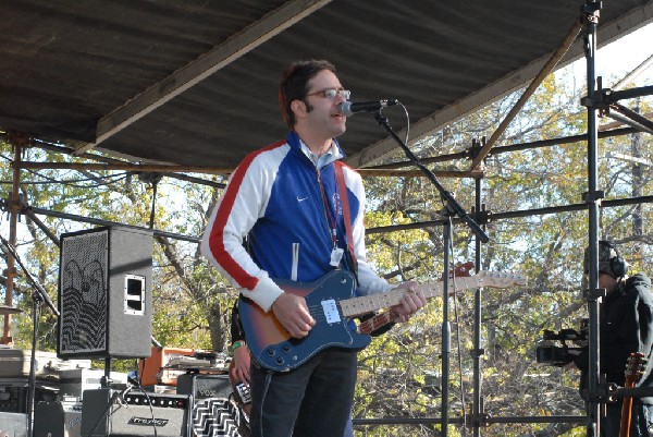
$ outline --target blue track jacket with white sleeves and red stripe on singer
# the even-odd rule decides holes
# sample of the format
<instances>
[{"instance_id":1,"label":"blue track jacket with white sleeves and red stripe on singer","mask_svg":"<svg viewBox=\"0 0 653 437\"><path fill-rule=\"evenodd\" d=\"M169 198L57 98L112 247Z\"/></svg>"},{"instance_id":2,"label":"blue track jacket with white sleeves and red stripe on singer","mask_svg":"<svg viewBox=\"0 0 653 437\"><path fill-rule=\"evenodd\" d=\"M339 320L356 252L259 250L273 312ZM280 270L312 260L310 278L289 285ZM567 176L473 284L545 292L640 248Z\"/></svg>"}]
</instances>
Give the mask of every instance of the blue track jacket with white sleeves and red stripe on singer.
<instances>
[{"instance_id":1,"label":"blue track jacket with white sleeves and red stripe on singer","mask_svg":"<svg viewBox=\"0 0 653 437\"><path fill-rule=\"evenodd\" d=\"M312 282L333 269L330 223L334 217L337 245L346 245L335 166L343 166L347 186L358 260L357 293L392 289L367 263L362 180L352 168L335 161L344 155L335 139L334 144L334 161L319 170L301 150L295 132L285 142L249 154L232 173L211 215L201 242L202 254L243 295L266 312L283 293L271 278ZM320 184L328 198L326 208ZM249 252L243 246L245 236Z\"/></svg>"}]
</instances>

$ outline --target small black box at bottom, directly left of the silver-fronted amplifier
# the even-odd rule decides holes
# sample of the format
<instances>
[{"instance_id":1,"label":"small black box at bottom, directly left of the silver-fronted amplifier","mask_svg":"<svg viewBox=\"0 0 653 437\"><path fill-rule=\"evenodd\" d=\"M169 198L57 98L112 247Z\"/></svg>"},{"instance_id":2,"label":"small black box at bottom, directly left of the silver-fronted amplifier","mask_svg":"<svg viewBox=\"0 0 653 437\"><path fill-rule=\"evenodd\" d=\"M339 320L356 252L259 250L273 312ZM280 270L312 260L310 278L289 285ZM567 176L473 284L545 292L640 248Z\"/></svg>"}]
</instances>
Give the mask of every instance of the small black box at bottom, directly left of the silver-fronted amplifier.
<instances>
[{"instance_id":1,"label":"small black box at bottom, directly left of the silver-fronted amplifier","mask_svg":"<svg viewBox=\"0 0 653 437\"><path fill-rule=\"evenodd\" d=\"M39 402L34 406L34 437L79 437L82 402Z\"/></svg>"}]
</instances>

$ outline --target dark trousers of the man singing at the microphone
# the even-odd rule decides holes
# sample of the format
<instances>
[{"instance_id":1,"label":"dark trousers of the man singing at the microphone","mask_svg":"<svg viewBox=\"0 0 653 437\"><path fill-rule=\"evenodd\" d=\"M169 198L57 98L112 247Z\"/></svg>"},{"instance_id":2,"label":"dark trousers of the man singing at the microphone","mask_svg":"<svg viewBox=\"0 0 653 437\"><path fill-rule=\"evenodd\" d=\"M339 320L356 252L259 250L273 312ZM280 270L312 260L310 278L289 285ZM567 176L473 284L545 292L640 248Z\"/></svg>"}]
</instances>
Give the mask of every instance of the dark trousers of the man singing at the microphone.
<instances>
[{"instance_id":1,"label":"dark trousers of the man singing at the microphone","mask_svg":"<svg viewBox=\"0 0 653 437\"><path fill-rule=\"evenodd\" d=\"M289 372L252 361L251 437L338 437L352 413L356 351L329 348Z\"/></svg>"}]
</instances>

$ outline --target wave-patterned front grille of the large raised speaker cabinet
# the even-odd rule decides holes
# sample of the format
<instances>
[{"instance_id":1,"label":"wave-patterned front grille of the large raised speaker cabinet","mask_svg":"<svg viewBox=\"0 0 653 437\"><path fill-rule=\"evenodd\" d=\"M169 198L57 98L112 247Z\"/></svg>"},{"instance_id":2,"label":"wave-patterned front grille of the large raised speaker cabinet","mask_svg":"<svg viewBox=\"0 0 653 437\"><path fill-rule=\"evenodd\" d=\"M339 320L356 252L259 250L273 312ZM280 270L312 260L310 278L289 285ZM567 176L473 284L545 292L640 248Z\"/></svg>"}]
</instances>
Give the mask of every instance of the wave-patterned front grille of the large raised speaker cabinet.
<instances>
[{"instance_id":1,"label":"wave-patterned front grille of the large raised speaker cabinet","mask_svg":"<svg viewBox=\"0 0 653 437\"><path fill-rule=\"evenodd\" d=\"M109 230L61 241L61 350L95 353L107 349Z\"/></svg>"}]
</instances>

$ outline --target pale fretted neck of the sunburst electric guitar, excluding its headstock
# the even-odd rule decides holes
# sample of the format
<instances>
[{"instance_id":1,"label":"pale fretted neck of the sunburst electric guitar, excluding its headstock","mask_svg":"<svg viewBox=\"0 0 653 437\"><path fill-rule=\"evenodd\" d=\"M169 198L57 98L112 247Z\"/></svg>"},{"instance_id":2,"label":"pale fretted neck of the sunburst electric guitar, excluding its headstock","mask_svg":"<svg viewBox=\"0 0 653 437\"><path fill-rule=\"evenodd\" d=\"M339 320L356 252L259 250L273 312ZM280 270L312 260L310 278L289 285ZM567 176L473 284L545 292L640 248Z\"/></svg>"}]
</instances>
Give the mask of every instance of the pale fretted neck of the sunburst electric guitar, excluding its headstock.
<instances>
[{"instance_id":1,"label":"pale fretted neck of the sunburst electric guitar, excluding its headstock","mask_svg":"<svg viewBox=\"0 0 653 437\"><path fill-rule=\"evenodd\" d=\"M449 294L458 290L468 290L471 288L482 287L476 277L456 278L456 288L454 281L449 281ZM419 287L427 299L432 299L442 295L443 282L426 283ZM402 298L406 294L405 290L395 289L385 293L377 293L367 296L352 298L340 301L343 315L346 317L358 316L365 313L370 313L381 308L397 305L402 302Z\"/></svg>"}]
</instances>

